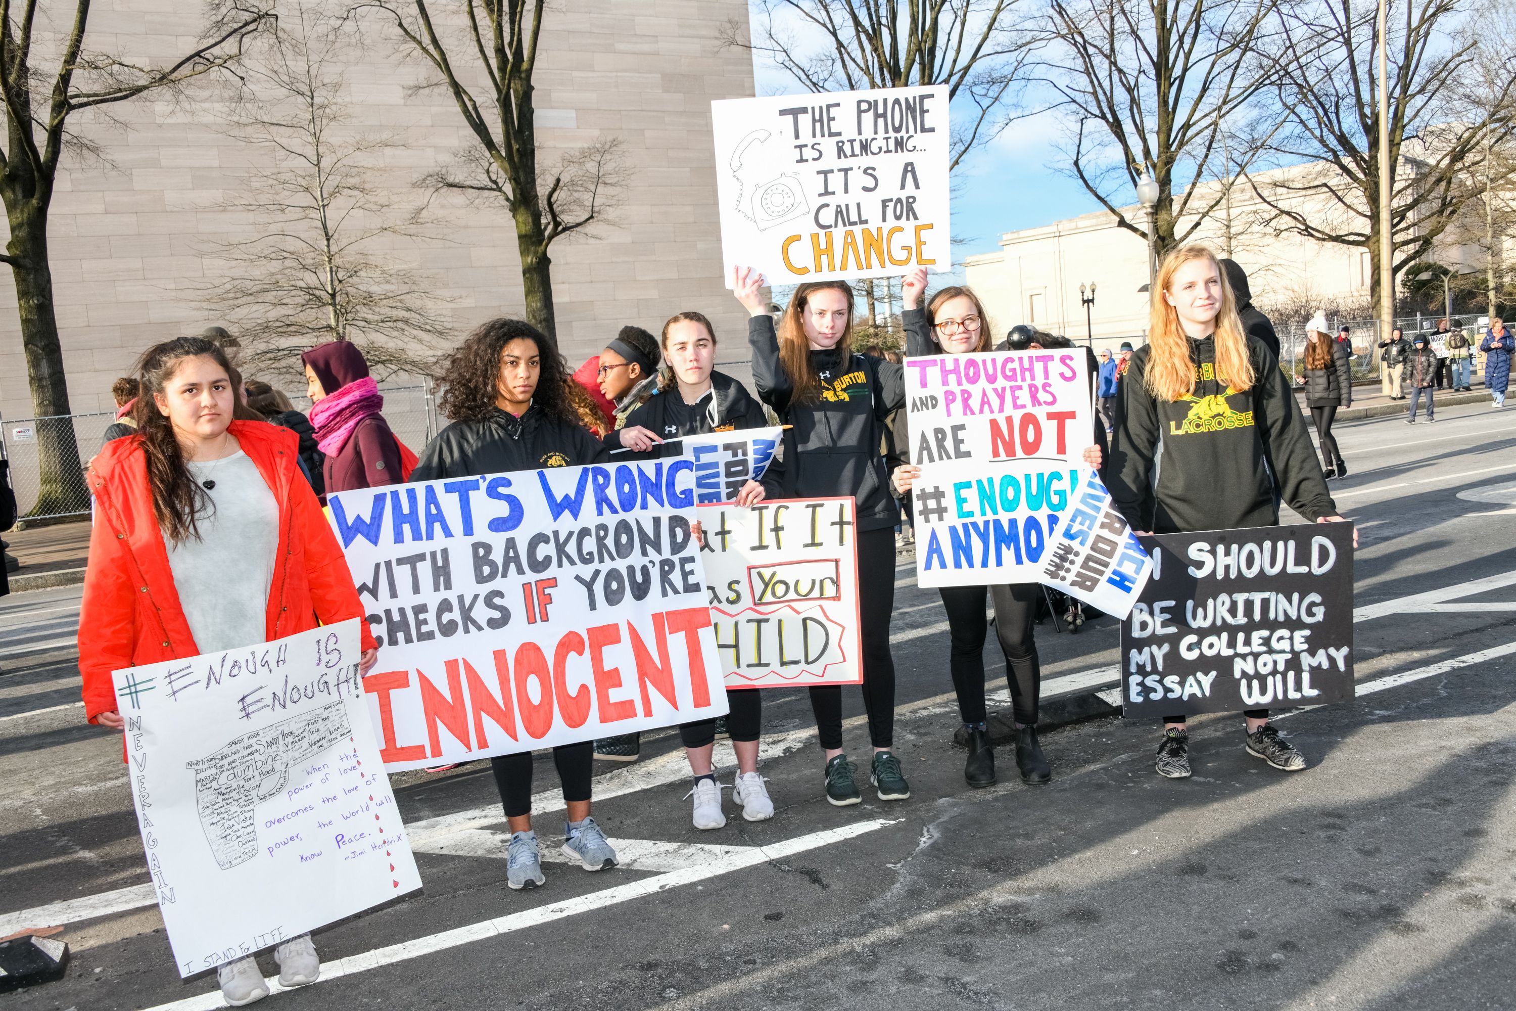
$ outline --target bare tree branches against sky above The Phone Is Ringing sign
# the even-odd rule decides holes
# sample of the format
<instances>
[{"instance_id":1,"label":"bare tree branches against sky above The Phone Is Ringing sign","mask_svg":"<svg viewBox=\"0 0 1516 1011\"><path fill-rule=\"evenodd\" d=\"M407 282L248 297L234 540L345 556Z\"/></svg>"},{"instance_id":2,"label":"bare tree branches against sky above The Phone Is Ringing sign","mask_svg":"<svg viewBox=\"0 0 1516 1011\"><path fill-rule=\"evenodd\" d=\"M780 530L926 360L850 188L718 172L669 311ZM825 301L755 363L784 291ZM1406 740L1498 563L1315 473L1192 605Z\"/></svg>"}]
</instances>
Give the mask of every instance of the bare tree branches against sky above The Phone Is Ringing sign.
<instances>
[{"instance_id":1,"label":"bare tree branches against sky above The Phone Is Ringing sign","mask_svg":"<svg viewBox=\"0 0 1516 1011\"><path fill-rule=\"evenodd\" d=\"M948 85L949 168L1014 118L1031 49L1013 24L1016 0L756 0L752 38L723 41L767 58L808 91ZM961 109L970 109L963 115Z\"/></svg>"}]
</instances>

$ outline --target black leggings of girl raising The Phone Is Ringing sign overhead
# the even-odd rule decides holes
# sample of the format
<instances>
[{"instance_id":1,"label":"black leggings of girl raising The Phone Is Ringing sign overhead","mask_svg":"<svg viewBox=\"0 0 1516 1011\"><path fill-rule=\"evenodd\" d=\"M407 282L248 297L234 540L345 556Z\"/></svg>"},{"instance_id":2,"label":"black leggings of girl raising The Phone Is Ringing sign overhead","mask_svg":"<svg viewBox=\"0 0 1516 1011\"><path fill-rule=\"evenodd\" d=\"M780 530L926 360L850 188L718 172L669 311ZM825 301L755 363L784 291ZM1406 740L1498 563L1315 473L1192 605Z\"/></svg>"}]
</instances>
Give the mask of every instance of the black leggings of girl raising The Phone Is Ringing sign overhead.
<instances>
[{"instance_id":1,"label":"black leggings of girl raising The Phone Is Ringing sign overhead","mask_svg":"<svg viewBox=\"0 0 1516 1011\"><path fill-rule=\"evenodd\" d=\"M890 614L894 611L894 531L858 534L858 638L863 643L863 708L875 747L894 743L894 658L890 655ZM843 746L841 685L811 688L811 709L822 747Z\"/></svg>"}]
</instances>

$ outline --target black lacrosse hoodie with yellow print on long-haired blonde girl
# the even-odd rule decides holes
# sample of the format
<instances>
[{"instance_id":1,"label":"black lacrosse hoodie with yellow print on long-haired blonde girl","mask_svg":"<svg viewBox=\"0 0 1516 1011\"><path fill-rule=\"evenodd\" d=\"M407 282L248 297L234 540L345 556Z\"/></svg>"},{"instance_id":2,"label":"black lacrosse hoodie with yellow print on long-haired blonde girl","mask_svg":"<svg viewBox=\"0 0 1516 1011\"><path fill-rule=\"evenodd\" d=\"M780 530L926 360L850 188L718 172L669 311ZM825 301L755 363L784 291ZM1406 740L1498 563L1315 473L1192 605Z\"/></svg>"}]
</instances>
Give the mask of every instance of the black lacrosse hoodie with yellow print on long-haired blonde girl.
<instances>
[{"instance_id":1,"label":"black lacrosse hoodie with yellow print on long-haired blonde girl","mask_svg":"<svg viewBox=\"0 0 1516 1011\"><path fill-rule=\"evenodd\" d=\"M1195 393L1167 402L1148 391L1152 347L1140 347L1116 391L1116 434L1105 484L1139 531L1187 534L1275 526L1280 496L1307 520L1337 512L1310 429L1273 355L1248 340L1254 387L1216 379L1216 346L1190 340ZM1273 474L1275 477L1270 477Z\"/></svg>"}]
</instances>

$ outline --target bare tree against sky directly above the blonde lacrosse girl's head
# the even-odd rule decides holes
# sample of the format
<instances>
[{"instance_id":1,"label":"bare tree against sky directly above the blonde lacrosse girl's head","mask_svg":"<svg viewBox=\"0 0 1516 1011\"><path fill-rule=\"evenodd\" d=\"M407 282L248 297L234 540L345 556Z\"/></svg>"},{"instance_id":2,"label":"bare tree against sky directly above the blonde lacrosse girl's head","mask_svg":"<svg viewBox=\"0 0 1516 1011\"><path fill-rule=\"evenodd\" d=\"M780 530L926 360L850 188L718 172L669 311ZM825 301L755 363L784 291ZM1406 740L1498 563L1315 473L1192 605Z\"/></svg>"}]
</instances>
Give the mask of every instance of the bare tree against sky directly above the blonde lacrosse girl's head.
<instances>
[{"instance_id":1,"label":"bare tree against sky directly above the blonde lacrosse girl's head","mask_svg":"<svg viewBox=\"0 0 1516 1011\"><path fill-rule=\"evenodd\" d=\"M1225 208L1261 142L1249 108L1272 70L1254 53L1275 0L1051 0L1041 73L1070 118L1069 171L1134 221L1137 182L1158 183L1154 247L1161 256ZM1199 185L1216 180L1216 185Z\"/></svg>"}]
</instances>

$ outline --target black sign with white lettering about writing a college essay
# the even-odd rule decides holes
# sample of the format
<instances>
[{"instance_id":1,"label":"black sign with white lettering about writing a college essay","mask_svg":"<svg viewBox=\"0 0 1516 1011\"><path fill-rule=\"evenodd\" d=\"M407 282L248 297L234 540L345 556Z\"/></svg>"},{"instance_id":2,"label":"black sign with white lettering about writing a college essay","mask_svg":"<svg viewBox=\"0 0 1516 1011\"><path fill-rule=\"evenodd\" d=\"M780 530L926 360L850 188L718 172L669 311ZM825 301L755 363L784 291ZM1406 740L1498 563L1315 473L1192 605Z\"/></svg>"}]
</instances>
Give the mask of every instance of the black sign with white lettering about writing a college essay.
<instances>
[{"instance_id":1,"label":"black sign with white lettering about writing a college essay","mask_svg":"<svg viewBox=\"0 0 1516 1011\"><path fill-rule=\"evenodd\" d=\"M1352 699L1352 524L1140 538L1152 579L1122 621L1122 714Z\"/></svg>"}]
</instances>

